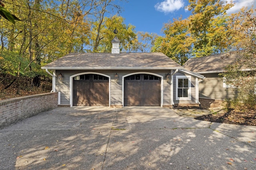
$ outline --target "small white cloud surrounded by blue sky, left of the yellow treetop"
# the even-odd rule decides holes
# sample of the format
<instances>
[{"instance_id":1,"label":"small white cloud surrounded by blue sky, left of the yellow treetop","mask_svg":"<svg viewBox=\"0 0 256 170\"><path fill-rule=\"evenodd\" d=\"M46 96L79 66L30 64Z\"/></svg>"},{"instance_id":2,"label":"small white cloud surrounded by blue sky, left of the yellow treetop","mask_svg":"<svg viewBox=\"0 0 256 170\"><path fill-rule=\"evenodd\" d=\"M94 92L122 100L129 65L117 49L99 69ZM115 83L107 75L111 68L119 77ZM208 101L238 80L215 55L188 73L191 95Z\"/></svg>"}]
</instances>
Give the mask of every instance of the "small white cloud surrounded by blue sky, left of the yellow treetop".
<instances>
[{"instance_id":1,"label":"small white cloud surrounded by blue sky, left of the yellow treetop","mask_svg":"<svg viewBox=\"0 0 256 170\"><path fill-rule=\"evenodd\" d=\"M164 13L174 12L184 7L183 0L164 0L164 2L155 5L156 10Z\"/></svg>"}]
</instances>

